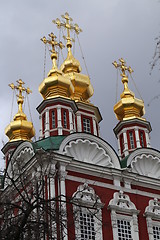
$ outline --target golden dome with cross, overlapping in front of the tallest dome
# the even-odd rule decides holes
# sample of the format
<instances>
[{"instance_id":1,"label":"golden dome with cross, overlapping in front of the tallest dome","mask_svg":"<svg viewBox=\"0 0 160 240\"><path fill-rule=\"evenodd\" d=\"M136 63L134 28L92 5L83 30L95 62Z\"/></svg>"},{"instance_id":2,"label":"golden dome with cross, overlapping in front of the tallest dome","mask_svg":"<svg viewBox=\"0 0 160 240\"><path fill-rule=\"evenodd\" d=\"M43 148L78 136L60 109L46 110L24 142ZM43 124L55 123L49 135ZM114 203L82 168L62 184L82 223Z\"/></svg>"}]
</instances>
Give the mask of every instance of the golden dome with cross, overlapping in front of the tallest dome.
<instances>
[{"instance_id":1,"label":"golden dome with cross, overlapping in front of the tallest dome","mask_svg":"<svg viewBox=\"0 0 160 240\"><path fill-rule=\"evenodd\" d=\"M41 40L46 44L52 46L51 59L52 59L52 69L48 73L48 77L43 80L39 86L39 92L44 99L54 98L54 97L67 97L70 98L73 93L73 85L70 79L65 78L62 71L57 67L57 54L55 52L55 45L63 47L62 43L57 43L55 41L55 35L53 33L49 34L51 40L47 40L43 37Z\"/></svg>"}]
</instances>

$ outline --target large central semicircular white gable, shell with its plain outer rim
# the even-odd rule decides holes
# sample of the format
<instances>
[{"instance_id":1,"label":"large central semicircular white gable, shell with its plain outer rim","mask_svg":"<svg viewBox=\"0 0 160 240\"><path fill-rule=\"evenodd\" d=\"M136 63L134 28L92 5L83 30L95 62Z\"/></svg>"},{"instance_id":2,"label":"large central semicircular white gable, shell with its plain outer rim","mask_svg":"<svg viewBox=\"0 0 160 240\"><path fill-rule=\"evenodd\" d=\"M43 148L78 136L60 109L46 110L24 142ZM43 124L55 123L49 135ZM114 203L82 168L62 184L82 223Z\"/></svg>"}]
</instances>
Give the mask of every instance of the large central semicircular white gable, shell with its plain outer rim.
<instances>
[{"instance_id":1,"label":"large central semicircular white gable, shell with its plain outer rim","mask_svg":"<svg viewBox=\"0 0 160 240\"><path fill-rule=\"evenodd\" d=\"M120 169L119 158L112 147L101 138L86 133L74 133L61 143L59 153L92 164Z\"/></svg>"}]
</instances>

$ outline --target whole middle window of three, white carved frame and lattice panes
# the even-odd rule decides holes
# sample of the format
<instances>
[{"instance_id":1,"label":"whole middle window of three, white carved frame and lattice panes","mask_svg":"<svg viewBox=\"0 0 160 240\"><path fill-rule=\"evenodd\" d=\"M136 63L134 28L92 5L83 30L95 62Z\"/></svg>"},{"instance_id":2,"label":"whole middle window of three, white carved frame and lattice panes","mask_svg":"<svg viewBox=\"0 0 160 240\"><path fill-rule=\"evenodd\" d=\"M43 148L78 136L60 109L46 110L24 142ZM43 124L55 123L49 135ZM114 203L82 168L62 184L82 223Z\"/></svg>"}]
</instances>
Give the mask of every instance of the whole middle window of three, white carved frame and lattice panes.
<instances>
[{"instance_id":1,"label":"whole middle window of three, white carved frame and lattice panes","mask_svg":"<svg viewBox=\"0 0 160 240\"><path fill-rule=\"evenodd\" d=\"M139 211L123 191L115 192L109 202L114 240L138 240Z\"/></svg>"}]
</instances>

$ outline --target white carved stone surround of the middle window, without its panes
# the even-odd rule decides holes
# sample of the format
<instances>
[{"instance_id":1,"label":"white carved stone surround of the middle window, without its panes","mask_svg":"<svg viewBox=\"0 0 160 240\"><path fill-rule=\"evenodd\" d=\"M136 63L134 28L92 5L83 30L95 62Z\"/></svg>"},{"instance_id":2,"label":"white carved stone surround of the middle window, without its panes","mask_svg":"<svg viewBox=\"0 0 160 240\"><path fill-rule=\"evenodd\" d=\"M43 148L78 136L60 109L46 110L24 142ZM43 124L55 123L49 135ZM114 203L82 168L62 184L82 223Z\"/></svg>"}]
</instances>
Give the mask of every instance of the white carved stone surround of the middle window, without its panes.
<instances>
[{"instance_id":1,"label":"white carved stone surround of the middle window, without its panes","mask_svg":"<svg viewBox=\"0 0 160 240\"><path fill-rule=\"evenodd\" d=\"M115 192L113 199L109 202L108 209L111 210L113 239L118 239L117 220L123 219L130 222L133 240L138 240L139 231L137 215L139 211L137 211L136 206L131 202L129 196L124 194L123 191Z\"/></svg>"}]
</instances>

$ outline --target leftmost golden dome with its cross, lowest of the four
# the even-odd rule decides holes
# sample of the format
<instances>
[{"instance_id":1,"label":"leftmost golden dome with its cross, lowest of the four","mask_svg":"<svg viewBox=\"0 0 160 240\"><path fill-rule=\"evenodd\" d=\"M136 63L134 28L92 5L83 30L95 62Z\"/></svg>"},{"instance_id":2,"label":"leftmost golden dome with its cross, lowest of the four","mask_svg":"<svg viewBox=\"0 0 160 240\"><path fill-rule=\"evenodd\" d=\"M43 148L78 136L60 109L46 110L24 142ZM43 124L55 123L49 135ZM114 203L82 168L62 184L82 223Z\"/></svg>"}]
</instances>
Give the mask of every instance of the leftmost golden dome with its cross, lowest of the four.
<instances>
[{"instance_id":1,"label":"leftmost golden dome with its cross, lowest of the four","mask_svg":"<svg viewBox=\"0 0 160 240\"><path fill-rule=\"evenodd\" d=\"M13 121L6 127L5 134L8 136L9 141L18 141L18 140L28 140L31 141L31 138L35 135L35 130L33 123L27 120L25 113L22 110L23 105L23 96L22 92L25 91L27 94L31 92L29 88L25 89L22 85L24 82L18 80L18 86L15 86L13 83L10 84L12 89L19 90L19 95L17 95L18 103L18 113L14 116Z\"/></svg>"}]
</instances>

